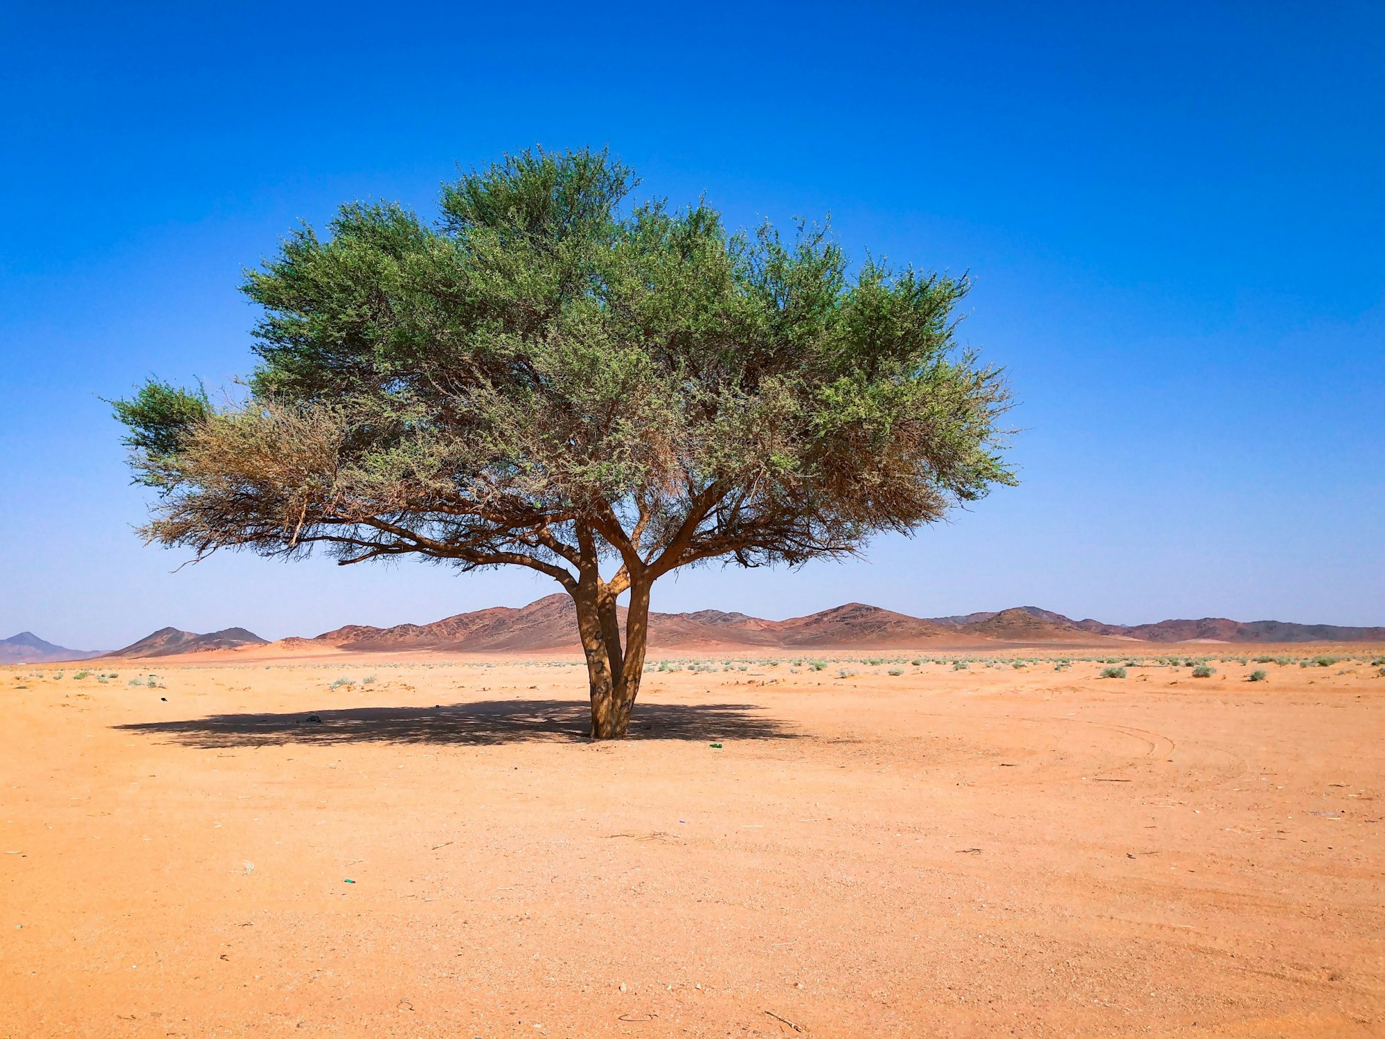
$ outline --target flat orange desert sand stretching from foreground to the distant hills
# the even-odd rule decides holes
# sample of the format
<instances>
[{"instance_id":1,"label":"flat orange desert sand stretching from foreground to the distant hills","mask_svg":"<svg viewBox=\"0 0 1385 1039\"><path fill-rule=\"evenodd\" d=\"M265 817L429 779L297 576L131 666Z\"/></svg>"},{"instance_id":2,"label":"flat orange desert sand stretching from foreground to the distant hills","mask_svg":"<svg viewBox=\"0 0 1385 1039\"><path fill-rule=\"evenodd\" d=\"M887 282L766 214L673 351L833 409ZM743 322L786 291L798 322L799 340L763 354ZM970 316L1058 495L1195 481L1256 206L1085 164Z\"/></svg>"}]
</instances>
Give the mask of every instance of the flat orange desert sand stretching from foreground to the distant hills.
<instances>
[{"instance_id":1,"label":"flat orange desert sand stretching from foreground to the distant hills","mask_svg":"<svg viewBox=\"0 0 1385 1039\"><path fill-rule=\"evenodd\" d=\"M651 672L602 745L554 662L86 666L0 669L10 1039L1385 1035L1364 662Z\"/></svg>"}]
</instances>

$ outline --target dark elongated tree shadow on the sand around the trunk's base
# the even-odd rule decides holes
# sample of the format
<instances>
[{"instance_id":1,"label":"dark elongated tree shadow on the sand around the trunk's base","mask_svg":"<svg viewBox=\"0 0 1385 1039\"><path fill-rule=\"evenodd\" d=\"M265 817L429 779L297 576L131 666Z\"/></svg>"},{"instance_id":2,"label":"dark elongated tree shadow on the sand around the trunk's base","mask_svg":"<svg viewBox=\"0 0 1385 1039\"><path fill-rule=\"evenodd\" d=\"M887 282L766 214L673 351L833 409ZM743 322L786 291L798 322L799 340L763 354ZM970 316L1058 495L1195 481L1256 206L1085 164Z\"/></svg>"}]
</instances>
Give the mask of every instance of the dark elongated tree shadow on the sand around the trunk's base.
<instances>
[{"instance_id":1,"label":"dark elongated tree shadow on the sand around the trunk's base","mask_svg":"<svg viewBox=\"0 0 1385 1039\"><path fill-rule=\"evenodd\" d=\"M755 712L755 713L752 713ZM791 740L799 733L753 704L636 704L630 740ZM316 719L316 720L314 720ZM274 747L287 743L417 743L490 745L586 743L590 708L572 700L481 700L438 707L360 707L283 715L209 715L136 722L116 729L166 736L184 747Z\"/></svg>"}]
</instances>

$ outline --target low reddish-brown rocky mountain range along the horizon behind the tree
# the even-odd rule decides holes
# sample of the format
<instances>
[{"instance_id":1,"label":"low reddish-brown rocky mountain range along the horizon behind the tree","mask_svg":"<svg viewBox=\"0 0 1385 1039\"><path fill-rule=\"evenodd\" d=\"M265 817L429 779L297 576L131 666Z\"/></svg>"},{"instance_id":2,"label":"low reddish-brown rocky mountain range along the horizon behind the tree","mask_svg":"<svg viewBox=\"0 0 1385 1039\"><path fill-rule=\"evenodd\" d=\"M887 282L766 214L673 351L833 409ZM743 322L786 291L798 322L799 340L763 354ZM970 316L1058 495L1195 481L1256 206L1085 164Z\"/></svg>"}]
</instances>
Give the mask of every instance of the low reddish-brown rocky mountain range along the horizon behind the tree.
<instances>
[{"instance_id":1,"label":"low reddish-brown rocky mountain range along the horizon behind the tree","mask_svg":"<svg viewBox=\"0 0 1385 1039\"><path fill-rule=\"evenodd\" d=\"M623 611L622 611L623 612ZM1303 625L1285 621L1159 621L1114 625L1091 618L1073 621L1039 607L996 612L920 618L892 610L848 603L807 616L766 621L747 614L698 610L688 614L650 614L651 650L819 650L819 648L986 648L1000 646L1114 646L1120 643L1314 643L1375 641L1385 644L1385 628ZM346 625L313 639L269 643L244 628L197 634L161 628L111 654L53 646L24 632L0 641L0 664L89 659L91 657L175 657L213 650L263 647L285 655L316 652L548 652L576 651L572 600L554 594L526 607L490 607L427 625L371 628Z\"/></svg>"}]
</instances>

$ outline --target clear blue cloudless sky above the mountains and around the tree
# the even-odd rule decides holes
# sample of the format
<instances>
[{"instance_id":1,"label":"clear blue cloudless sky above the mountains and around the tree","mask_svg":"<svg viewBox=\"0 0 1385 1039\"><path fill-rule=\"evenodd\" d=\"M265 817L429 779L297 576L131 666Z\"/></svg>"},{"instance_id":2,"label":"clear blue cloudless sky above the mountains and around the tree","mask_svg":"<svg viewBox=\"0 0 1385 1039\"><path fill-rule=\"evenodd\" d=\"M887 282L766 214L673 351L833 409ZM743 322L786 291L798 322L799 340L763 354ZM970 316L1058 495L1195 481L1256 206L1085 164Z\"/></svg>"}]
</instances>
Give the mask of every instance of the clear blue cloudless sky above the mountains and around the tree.
<instances>
[{"instance_id":1,"label":"clear blue cloudless sky above the mountains and around the tree","mask_svg":"<svg viewBox=\"0 0 1385 1039\"><path fill-rule=\"evenodd\" d=\"M251 366L241 267L355 198L609 144L733 224L970 270L1022 485L656 610L1385 623L1385 6L0 6L0 636L314 634L557 590L130 525L98 398Z\"/></svg>"}]
</instances>

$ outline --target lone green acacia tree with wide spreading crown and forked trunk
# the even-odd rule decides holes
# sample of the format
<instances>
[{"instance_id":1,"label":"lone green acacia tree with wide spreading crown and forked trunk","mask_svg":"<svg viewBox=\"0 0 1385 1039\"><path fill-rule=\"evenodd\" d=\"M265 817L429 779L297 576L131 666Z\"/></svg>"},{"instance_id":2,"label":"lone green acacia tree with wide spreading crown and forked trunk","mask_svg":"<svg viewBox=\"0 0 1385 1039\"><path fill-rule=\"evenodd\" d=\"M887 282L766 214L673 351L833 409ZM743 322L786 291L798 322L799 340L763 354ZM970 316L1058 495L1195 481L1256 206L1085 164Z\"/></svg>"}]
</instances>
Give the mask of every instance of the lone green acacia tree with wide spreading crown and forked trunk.
<instances>
[{"instance_id":1,"label":"lone green acacia tree with wide spreading crown and forked trunk","mask_svg":"<svg viewBox=\"0 0 1385 1039\"><path fill-rule=\"evenodd\" d=\"M115 402L158 490L141 533L546 574L609 738L662 575L848 556L1014 482L1001 373L954 341L965 278L849 273L823 229L729 234L636 184L607 152L526 151L446 184L431 224L357 202L292 234L247 273L240 399Z\"/></svg>"}]
</instances>

